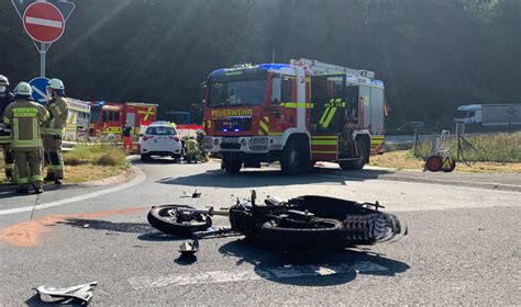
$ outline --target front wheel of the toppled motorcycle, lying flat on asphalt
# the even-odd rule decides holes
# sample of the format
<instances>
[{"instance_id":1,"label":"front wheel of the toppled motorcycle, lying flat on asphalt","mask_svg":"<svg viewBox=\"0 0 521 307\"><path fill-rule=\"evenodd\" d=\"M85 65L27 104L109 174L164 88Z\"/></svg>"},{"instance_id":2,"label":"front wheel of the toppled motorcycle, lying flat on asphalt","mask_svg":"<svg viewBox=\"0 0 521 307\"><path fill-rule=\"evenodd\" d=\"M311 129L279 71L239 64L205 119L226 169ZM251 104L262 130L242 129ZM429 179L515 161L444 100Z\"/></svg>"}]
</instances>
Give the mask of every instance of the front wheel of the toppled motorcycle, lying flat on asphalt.
<instances>
[{"instance_id":1,"label":"front wheel of the toppled motorcycle, lying flat on asphalt","mask_svg":"<svg viewBox=\"0 0 521 307\"><path fill-rule=\"evenodd\" d=\"M184 205L164 205L152 207L146 216L148 224L155 229L174 236L190 237L196 231L204 231L212 226L212 219L206 216L203 220L190 220L190 223L177 223L166 213L175 208L193 208Z\"/></svg>"}]
</instances>

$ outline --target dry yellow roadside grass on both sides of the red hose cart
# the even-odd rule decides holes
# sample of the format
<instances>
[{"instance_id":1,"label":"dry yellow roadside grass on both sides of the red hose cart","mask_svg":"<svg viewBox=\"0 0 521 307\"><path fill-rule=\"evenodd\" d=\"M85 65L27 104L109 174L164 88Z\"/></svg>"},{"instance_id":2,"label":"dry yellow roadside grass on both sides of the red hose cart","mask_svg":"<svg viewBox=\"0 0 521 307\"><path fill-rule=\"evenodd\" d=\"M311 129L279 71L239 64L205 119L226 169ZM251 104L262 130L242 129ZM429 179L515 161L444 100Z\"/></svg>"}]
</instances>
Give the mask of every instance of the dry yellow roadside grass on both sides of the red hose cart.
<instances>
[{"instance_id":1,"label":"dry yellow roadside grass on both sides of the red hose cart","mask_svg":"<svg viewBox=\"0 0 521 307\"><path fill-rule=\"evenodd\" d=\"M370 164L393 169L423 170L423 159L414 158L409 150L390 151L370 157ZM507 162L472 162L457 163L456 170L461 172L485 173L521 173L521 163Z\"/></svg>"}]
</instances>

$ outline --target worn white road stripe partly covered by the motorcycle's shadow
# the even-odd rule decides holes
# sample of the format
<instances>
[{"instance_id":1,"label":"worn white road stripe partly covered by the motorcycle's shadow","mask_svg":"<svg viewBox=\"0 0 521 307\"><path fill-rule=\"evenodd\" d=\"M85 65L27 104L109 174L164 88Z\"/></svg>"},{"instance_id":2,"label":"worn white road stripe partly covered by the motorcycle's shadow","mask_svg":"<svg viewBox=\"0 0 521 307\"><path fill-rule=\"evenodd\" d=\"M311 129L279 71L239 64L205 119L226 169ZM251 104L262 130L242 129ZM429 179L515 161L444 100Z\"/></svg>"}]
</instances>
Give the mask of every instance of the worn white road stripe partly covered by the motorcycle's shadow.
<instances>
[{"instance_id":1,"label":"worn white road stripe partly covered by the motorcycle's shadow","mask_svg":"<svg viewBox=\"0 0 521 307\"><path fill-rule=\"evenodd\" d=\"M230 283L256 280L295 278L309 276L328 276L352 272L369 273L385 272L388 268L370 261L355 261L354 263L335 263L321 265L285 265L257 271L211 271L200 273L185 273L167 276L141 276L129 280L134 289L157 288L166 286L184 286L196 284Z\"/></svg>"}]
</instances>

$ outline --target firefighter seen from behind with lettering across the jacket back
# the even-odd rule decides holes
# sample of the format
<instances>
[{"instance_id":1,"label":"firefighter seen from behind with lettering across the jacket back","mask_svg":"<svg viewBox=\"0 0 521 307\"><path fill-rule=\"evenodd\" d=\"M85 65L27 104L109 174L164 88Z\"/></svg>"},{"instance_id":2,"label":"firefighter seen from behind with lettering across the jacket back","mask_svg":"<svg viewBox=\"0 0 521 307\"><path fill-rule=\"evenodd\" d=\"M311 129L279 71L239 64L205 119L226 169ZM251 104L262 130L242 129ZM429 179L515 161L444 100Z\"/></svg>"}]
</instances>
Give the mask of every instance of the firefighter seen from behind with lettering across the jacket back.
<instances>
[{"instance_id":1,"label":"firefighter seen from behind with lettering across the jacket back","mask_svg":"<svg viewBox=\"0 0 521 307\"><path fill-rule=\"evenodd\" d=\"M36 194L43 193L41 125L48 120L47 110L31 101L32 89L20 82L14 90L14 102L3 113L3 123L11 128L12 150L16 169L16 193L29 193L31 183Z\"/></svg>"}]
</instances>

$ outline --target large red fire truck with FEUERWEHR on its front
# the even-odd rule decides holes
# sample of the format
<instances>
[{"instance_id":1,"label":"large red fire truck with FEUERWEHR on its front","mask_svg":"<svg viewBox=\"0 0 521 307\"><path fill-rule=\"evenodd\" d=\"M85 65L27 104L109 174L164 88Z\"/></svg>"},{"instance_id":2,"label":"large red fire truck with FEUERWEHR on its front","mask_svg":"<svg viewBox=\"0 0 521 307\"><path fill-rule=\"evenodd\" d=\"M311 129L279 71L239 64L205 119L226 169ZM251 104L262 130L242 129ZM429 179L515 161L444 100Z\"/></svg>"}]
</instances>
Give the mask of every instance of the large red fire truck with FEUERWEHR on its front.
<instances>
[{"instance_id":1,"label":"large red fire truck with FEUERWEHR on its front","mask_svg":"<svg viewBox=\"0 0 521 307\"><path fill-rule=\"evenodd\" d=\"M214 70L203 146L229 173L275 161L286 174L317 161L361 170L384 149L384 90L373 71L304 58Z\"/></svg>"}]
</instances>

